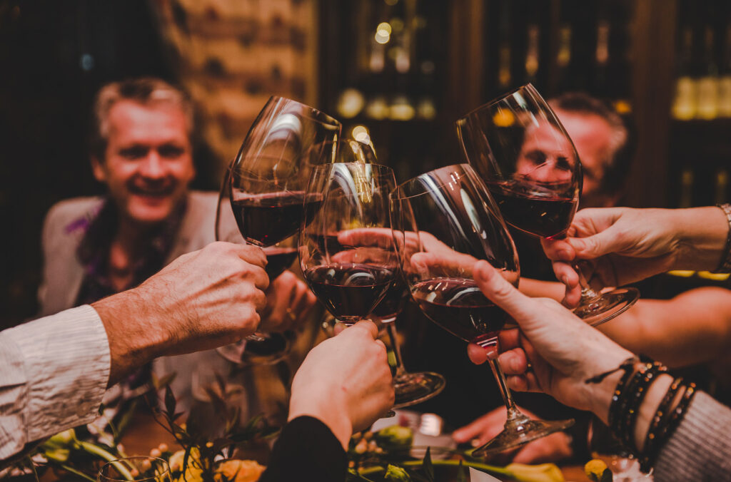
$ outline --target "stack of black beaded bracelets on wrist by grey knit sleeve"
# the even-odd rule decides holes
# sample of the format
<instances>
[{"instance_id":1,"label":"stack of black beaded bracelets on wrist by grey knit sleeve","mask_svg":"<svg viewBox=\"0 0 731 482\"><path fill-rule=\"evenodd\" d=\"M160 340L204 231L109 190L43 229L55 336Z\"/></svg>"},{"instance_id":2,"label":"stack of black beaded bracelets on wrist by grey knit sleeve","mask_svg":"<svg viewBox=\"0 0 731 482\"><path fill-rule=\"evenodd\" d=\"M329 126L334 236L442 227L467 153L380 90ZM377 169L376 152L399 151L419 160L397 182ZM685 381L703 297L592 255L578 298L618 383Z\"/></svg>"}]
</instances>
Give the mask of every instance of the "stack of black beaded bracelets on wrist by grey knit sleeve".
<instances>
[{"instance_id":1,"label":"stack of black beaded bracelets on wrist by grey knit sleeve","mask_svg":"<svg viewBox=\"0 0 731 482\"><path fill-rule=\"evenodd\" d=\"M652 362L645 356L626 359L616 370L623 370L619 383L612 395L609 406L608 424L621 443L640 460L640 469L649 472L660 449L678 428L690 402L696 393L694 383L683 383L683 378L675 378L655 415L645 437L643 450L635 444L635 424L649 387L667 367L659 362ZM586 380L586 383L597 383L610 372ZM597 380L598 379L598 380Z\"/></svg>"}]
</instances>

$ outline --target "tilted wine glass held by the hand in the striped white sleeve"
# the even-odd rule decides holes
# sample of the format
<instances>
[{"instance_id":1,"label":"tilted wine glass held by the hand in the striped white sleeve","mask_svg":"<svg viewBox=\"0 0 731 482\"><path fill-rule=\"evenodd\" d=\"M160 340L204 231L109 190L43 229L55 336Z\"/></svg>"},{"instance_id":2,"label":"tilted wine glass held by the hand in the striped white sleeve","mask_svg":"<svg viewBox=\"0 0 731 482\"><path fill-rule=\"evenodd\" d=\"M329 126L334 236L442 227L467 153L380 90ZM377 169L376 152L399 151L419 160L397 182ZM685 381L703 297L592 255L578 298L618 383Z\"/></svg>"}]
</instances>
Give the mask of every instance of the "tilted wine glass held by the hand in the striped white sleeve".
<instances>
[{"instance_id":1,"label":"tilted wine glass held by the hand in the striped white sleeve","mask_svg":"<svg viewBox=\"0 0 731 482\"><path fill-rule=\"evenodd\" d=\"M317 210L320 203L316 196L305 195L310 169L333 161L340 131L341 124L329 115L272 96L227 169L216 213L216 239L263 248L270 280L297 257L294 237L303 215ZM234 343L219 348L219 353L237 363L253 356L257 363L273 363L289 350L289 340L282 334L257 332L247 342L246 348L246 342Z\"/></svg>"}]
</instances>

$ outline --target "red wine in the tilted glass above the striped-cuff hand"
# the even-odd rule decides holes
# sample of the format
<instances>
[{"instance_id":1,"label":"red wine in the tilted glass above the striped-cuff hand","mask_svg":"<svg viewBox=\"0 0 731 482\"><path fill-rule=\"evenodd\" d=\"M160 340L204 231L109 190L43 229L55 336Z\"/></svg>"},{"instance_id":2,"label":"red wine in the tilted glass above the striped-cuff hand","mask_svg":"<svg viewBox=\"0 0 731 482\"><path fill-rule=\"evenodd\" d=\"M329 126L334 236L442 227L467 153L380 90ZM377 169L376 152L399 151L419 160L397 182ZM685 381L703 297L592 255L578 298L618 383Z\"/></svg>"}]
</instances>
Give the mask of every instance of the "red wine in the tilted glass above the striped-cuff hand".
<instances>
[{"instance_id":1,"label":"red wine in the tilted glass above the striped-cuff hand","mask_svg":"<svg viewBox=\"0 0 731 482\"><path fill-rule=\"evenodd\" d=\"M282 191L264 194L233 194L231 208L246 241L271 246L298 232L303 218L322 204L317 194Z\"/></svg>"}]
</instances>

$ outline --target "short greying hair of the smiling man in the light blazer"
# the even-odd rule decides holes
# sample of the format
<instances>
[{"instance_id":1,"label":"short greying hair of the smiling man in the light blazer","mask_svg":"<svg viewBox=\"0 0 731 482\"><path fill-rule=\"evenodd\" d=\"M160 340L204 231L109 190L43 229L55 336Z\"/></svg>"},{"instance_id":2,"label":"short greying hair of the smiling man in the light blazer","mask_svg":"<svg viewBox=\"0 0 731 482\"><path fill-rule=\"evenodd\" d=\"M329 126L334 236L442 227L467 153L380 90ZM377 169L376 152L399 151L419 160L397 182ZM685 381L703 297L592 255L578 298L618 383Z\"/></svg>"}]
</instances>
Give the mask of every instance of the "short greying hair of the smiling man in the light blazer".
<instances>
[{"instance_id":1,"label":"short greying hair of the smiling man in the light blazer","mask_svg":"<svg viewBox=\"0 0 731 482\"><path fill-rule=\"evenodd\" d=\"M104 85L94 98L89 148L91 155L104 161L109 139L109 112L112 106L123 100L131 100L151 107L167 104L178 107L186 118L188 136L193 132L193 104L189 96L164 80L155 77L139 77Z\"/></svg>"}]
</instances>

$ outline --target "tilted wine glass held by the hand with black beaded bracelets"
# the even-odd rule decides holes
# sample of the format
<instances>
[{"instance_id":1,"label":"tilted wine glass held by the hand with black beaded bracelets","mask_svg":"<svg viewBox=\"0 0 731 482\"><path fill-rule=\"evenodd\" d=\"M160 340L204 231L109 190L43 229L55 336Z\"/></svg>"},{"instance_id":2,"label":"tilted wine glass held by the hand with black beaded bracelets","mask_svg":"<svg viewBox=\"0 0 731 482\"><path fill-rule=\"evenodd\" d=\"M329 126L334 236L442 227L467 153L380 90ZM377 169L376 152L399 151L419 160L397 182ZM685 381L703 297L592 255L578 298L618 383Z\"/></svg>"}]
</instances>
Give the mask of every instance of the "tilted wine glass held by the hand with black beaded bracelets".
<instances>
[{"instance_id":1,"label":"tilted wine glass held by the hand with black beaded bracelets","mask_svg":"<svg viewBox=\"0 0 731 482\"><path fill-rule=\"evenodd\" d=\"M486 259L516 286L520 269L515 245L485 185L468 164L458 164L406 181L390 200L395 242L414 301L447 332L495 348L508 316L482 294L472 268ZM531 420L520 413L497 359L488 363L507 407L507 421L474 456L523 445L573 424Z\"/></svg>"}]
</instances>

